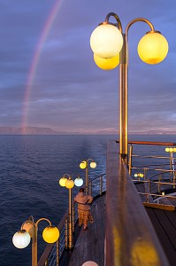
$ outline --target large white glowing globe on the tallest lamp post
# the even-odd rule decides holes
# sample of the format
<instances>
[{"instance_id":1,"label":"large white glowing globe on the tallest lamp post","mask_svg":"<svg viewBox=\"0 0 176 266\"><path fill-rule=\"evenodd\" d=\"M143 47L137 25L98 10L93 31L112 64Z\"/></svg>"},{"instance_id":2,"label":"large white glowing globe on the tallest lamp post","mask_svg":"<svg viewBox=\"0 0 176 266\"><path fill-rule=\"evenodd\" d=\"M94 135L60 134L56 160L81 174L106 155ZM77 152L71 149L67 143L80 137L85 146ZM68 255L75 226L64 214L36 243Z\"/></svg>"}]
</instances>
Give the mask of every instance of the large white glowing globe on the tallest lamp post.
<instances>
[{"instance_id":1,"label":"large white glowing globe on the tallest lamp post","mask_svg":"<svg viewBox=\"0 0 176 266\"><path fill-rule=\"evenodd\" d=\"M90 47L100 58L111 59L121 51L123 37L119 28L104 23L93 31L90 36Z\"/></svg>"}]
</instances>

